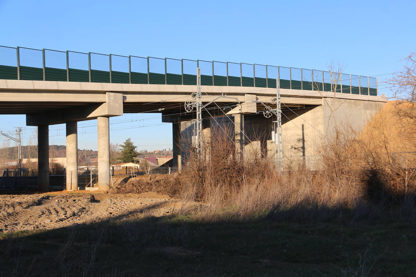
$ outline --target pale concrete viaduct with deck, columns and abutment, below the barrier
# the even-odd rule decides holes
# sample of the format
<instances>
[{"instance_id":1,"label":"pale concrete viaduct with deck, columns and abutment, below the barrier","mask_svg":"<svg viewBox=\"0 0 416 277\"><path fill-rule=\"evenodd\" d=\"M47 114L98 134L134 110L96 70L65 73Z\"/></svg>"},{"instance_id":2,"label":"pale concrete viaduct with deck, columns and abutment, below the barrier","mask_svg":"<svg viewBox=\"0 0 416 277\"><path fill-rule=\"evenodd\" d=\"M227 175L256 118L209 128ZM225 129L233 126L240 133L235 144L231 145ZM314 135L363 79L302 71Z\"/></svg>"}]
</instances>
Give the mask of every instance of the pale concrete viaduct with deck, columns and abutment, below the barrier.
<instances>
[{"instance_id":1,"label":"pale concrete viaduct with deck, columns and abutment, below the barrier","mask_svg":"<svg viewBox=\"0 0 416 277\"><path fill-rule=\"evenodd\" d=\"M25 114L27 125L38 127L39 188L49 189L49 125L66 124L67 134L67 189L77 188L77 122L97 119L98 125L98 182L99 189L108 190L109 172L109 117L123 113L162 113L164 122L173 123L174 164L181 166L181 122L191 120L194 113L186 113L183 103L196 92L193 85L94 83L70 81L31 81L0 79L0 114ZM210 105L210 115L233 115L235 143L248 146L243 132L248 126L265 128L271 119L256 114L263 106L253 101L270 103L276 88L245 86L202 86L203 103L223 93L232 98L220 98ZM331 117L332 105L337 106L339 122L348 121L363 127L365 120L386 102L380 96L330 91L280 89L282 110L283 152L288 156L316 153L317 141L333 131L336 121ZM235 99L233 99L235 98ZM240 104L236 104L239 101ZM335 101L335 103L334 103ZM217 108L229 104L227 109ZM210 115L205 113L204 118ZM245 117L245 115L252 115ZM209 123L205 124L209 130ZM302 128L300 128L302 126ZM310 140L305 139L305 135ZM303 137L301 153L296 151ZM252 143L252 142L250 142ZM269 157L273 157L272 142L265 137Z\"/></svg>"}]
</instances>

